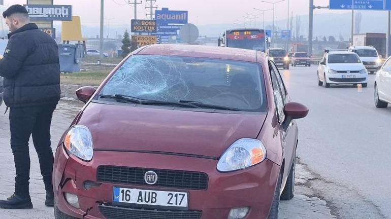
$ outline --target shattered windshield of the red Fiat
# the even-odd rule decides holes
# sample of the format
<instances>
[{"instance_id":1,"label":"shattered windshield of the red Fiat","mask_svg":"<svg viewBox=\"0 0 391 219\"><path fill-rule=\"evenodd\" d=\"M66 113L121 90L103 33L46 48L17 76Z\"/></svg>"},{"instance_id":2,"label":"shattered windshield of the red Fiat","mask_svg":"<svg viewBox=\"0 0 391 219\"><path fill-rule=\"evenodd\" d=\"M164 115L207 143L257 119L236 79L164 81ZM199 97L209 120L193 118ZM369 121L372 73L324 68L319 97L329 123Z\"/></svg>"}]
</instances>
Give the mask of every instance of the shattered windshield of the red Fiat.
<instances>
[{"instance_id":1,"label":"shattered windshield of the red Fiat","mask_svg":"<svg viewBox=\"0 0 391 219\"><path fill-rule=\"evenodd\" d=\"M177 56L134 55L101 94L205 104L264 112L262 71L256 63Z\"/></svg>"}]
</instances>

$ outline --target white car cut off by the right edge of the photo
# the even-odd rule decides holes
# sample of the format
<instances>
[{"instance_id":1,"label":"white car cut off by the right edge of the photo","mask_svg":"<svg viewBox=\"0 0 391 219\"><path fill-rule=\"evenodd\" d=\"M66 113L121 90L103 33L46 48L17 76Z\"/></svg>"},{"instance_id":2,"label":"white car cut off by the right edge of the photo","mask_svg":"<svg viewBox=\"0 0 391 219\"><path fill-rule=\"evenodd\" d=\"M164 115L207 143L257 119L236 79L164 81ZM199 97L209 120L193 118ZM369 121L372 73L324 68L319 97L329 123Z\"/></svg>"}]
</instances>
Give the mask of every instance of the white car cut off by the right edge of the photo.
<instances>
[{"instance_id":1,"label":"white car cut off by the right edge of the photo","mask_svg":"<svg viewBox=\"0 0 391 219\"><path fill-rule=\"evenodd\" d=\"M376 73L375 105L378 108L387 107L391 103L391 57L389 57Z\"/></svg>"}]
</instances>

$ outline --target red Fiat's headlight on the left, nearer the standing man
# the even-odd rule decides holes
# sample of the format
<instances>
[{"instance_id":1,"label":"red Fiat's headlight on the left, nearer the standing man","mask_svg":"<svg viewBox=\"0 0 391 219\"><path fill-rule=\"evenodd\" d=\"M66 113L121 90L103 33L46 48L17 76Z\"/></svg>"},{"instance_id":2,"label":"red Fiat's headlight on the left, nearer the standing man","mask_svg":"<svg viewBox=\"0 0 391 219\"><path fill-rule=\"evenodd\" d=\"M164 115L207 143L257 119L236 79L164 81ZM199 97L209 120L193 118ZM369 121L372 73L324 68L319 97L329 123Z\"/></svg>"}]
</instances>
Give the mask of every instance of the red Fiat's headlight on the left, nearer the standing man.
<instances>
[{"instance_id":1,"label":"red Fiat's headlight on the left, nearer the standing man","mask_svg":"<svg viewBox=\"0 0 391 219\"><path fill-rule=\"evenodd\" d=\"M85 126L73 126L64 138L64 147L76 157L90 161L93 155L91 132Z\"/></svg>"}]
</instances>

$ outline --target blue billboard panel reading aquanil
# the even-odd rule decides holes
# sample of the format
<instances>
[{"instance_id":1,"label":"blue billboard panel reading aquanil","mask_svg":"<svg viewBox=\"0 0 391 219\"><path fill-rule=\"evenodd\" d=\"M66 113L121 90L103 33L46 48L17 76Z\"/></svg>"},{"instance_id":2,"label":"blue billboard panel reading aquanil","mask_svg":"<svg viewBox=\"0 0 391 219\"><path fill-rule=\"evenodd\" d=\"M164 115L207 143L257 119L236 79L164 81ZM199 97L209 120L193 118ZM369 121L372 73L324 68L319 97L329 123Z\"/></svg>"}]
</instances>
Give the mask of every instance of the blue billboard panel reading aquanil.
<instances>
[{"instance_id":1,"label":"blue billboard panel reading aquanil","mask_svg":"<svg viewBox=\"0 0 391 219\"><path fill-rule=\"evenodd\" d=\"M155 11L155 20L159 25L169 24L187 24L187 11L169 11L168 8L162 8Z\"/></svg>"}]
</instances>

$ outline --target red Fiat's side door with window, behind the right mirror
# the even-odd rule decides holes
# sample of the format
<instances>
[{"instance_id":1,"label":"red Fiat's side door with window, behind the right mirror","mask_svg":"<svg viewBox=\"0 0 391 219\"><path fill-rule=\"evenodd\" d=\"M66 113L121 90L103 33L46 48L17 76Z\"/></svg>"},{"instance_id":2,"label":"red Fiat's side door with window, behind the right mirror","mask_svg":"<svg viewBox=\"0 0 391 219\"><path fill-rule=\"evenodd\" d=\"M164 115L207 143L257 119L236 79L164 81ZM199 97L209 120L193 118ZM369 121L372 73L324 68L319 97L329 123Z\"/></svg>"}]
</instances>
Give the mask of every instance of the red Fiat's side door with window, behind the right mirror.
<instances>
[{"instance_id":1,"label":"red Fiat's side door with window, behind the right mirror","mask_svg":"<svg viewBox=\"0 0 391 219\"><path fill-rule=\"evenodd\" d=\"M274 99L277 108L278 121L280 125L279 136L281 136L282 153L285 159L284 176L282 180L284 186L286 179L289 175L291 164L296 156L296 143L297 143L298 130L294 121L292 121L289 124L286 130L284 130L284 128L281 125L285 119L284 106L289 101L289 96L286 92L284 82L282 80L280 72L278 71L277 66L274 64L274 62L270 62L269 67L270 67L271 79L273 84Z\"/></svg>"}]
</instances>

